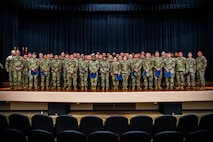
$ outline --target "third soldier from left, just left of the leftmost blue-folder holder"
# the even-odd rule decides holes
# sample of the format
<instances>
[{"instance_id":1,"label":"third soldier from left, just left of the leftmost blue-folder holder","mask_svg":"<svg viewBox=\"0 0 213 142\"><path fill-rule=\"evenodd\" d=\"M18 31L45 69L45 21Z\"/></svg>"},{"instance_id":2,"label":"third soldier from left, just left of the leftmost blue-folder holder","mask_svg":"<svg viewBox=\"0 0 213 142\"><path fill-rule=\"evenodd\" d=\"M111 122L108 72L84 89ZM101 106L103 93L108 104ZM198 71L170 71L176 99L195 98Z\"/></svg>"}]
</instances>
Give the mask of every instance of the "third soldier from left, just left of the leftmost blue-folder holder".
<instances>
[{"instance_id":1,"label":"third soldier from left, just left of the leftmost blue-folder holder","mask_svg":"<svg viewBox=\"0 0 213 142\"><path fill-rule=\"evenodd\" d=\"M22 87L23 89L28 88L29 83L29 69L28 69L28 59L27 54L23 56L23 69L22 69Z\"/></svg>"}]
</instances>

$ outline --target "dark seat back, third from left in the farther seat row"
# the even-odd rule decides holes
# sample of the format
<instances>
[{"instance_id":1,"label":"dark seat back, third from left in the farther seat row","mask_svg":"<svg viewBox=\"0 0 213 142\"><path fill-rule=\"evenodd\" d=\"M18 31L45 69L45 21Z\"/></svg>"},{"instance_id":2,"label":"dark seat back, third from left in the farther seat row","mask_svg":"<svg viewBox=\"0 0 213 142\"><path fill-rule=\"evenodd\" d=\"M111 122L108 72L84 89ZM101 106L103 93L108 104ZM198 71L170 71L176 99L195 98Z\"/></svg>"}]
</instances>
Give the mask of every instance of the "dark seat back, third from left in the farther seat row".
<instances>
[{"instance_id":1,"label":"dark seat back, third from left in the farther seat row","mask_svg":"<svg viewBox=\"0 0 213 142\"><path fill-rule=\"evenodd\" d=\"M52 117L45 114L35 114L32 117L32 130L34 129L42 129L49 131L51 134L54 133L54 124Z\"/></svg>"}]
</instances>

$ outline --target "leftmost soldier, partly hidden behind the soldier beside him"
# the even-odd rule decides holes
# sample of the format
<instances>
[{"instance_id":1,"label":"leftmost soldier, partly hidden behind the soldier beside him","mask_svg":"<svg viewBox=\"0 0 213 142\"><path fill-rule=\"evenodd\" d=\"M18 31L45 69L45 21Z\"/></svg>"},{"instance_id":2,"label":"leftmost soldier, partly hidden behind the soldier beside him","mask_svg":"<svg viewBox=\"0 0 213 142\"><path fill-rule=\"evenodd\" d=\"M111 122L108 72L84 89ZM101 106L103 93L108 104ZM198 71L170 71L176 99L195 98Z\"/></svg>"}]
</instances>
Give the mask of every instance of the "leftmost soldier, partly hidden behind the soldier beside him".
<instances>
[{"instance_id":1,"label":"leftmost soldier, partly hidden behind the soldier beside him","mask_svg":"<svg viewBox=\"0 0 213 142\"><path fill-rule=\"evenodd\" d=\"M14 88L14 86L13 86L14 85L13 84L13 67L12 67L11 61L15 55L16 55L15 50L12 50L11 55L6 58L6 63L5 63L5 69L9 75L9 83L10 83L11 89Z\"/></svg>"}]
</instances>

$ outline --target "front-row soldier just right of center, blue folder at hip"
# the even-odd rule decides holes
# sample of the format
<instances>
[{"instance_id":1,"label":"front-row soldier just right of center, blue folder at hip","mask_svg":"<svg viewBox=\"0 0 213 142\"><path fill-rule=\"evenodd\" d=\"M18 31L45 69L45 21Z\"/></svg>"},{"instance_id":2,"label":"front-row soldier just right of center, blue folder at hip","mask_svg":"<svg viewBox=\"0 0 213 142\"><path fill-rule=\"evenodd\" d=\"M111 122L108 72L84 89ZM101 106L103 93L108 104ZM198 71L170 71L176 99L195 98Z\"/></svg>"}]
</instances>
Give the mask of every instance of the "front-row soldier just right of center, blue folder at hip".
<instances>
[{"instance_id":1,"label":"front-row soldier just right of center, blue folder at hip","mask_svg":"<svg viewBox=\"0 0 213 142\"><path fill-rule=\"evenodd\" d=\"M118 62L116 57L113 58L113 62L111 64L110 73L111 73L111 76L112 76L113 89L118 90L119 80L116 79L116 75L120 75L121 74L121 65Z\"/></svg>"}]
</instances>

